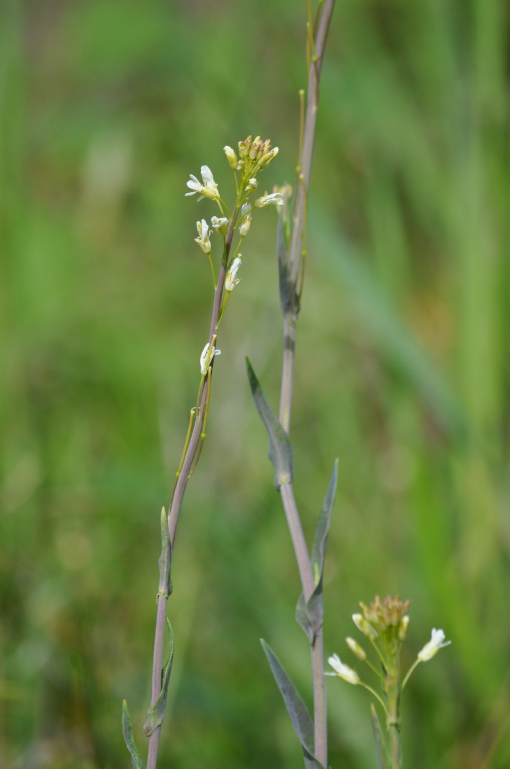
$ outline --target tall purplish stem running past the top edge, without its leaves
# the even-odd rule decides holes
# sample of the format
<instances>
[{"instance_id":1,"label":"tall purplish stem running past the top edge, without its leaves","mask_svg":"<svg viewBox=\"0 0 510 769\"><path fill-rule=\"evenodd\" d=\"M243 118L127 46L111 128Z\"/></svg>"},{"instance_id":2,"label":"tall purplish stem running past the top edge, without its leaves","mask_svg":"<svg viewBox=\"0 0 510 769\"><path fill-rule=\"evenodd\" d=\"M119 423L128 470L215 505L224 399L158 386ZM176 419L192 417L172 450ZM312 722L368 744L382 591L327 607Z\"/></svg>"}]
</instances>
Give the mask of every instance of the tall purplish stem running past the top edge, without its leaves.
<instances>
[{"instance_id":1,"label":"tall purplish stem running past the top edge, without its leaves","mask_svg":"<svg viewBox=\"0 0 510 769\"><path fill-rule=\"evenodd\" d=\"M306 217L306 201L310 185L312 168L313 142L315 138L316 113L319 99L319 79L323 62L323 52L326 36L333 14L334 0L324 0L315 39L315 56L310 61L308 73L308 94L306 98L306 114L304 119L303 142L301 146L299 184L293 207L293 229L289 251L289 282L291 305L283 316L283 365L280 388L279 419L283 429L290 431L290 412L292 407L294 357L296 347L296 321L299 315L299 297L296 286L300 277L303 262L303 231ZM296 508L292 484L280 487L283 508L289 525L290 536L296 554L300 571L303 595L306 601L313 593L314 582L310 555L306 547L301 526L300 515ZM326 723L326 687L324 682L324 650L322 628L316 632L311 646L313 671L313 730L314 750L317 760L327 767L327 723Z\"/></svg>"}]
</instances>

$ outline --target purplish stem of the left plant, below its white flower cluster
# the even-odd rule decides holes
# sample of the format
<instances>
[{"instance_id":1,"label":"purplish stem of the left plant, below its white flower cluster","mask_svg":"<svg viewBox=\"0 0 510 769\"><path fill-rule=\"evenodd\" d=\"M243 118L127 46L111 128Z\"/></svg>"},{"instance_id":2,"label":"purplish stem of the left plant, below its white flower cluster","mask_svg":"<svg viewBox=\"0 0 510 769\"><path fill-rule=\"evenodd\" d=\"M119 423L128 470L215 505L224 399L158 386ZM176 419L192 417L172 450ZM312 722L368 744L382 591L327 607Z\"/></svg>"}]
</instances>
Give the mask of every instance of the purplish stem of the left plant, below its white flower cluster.
<instances>
[{"instance_id":1,"label":"purplish stem of the left plant, below its white flower cluster","mask_svg":"<svg viewBox=\"0 0 510 769\"><path fill-rule=\"evenodd\" d=\"M225 251L224 258L221 261L220 272L218 275L218 282L216 291L214 291L213 309L210 317L210 331L209 331L209 344L213 343L213 336L217 332L217 325L220 320L220 308L221 297L223 295L225 277L227 275L227 262L230 254L230 246L232 245L233 228L237 217L237 208L233 211L233 216L230 219L230 227L227 232L227 238L225 238ZM214 365L214 358L211 359L211 365ZM197 409L197 417L191 431L189 443L187 445L187 451L184 454L184 461L180 468L180 474L177 478L177 483L174 487L174 494L172 494L171 502L168 511L168 535L170 538L170 550L171 555L174 553L174 541L175 534L177 532L177 523L179 522L180 508L184 498L184 491L186 491L187 481L189 479L191 465L193 463L195 452L200 441L200 433L202 432L202 425L204 424L205 405L207 403L207 393L210 387L210 380L212 377L212 370L210 375L204 378L202 384L202 391L199 397L199 406ZM152 694L151 694L151 706L154 707L154 703L161 693L161 668L163 663L163 646L164 646L164 629L165 618L167 615L167 597L159 595L157 597L157 615L156 615L156 632L154 636L154 654L152 660ZM157 754L159 751L161 726L154 729L151 737L149 737L149 749L147 753L147 769L156 769L157 767Z\"/></svg>"}]
</instances>

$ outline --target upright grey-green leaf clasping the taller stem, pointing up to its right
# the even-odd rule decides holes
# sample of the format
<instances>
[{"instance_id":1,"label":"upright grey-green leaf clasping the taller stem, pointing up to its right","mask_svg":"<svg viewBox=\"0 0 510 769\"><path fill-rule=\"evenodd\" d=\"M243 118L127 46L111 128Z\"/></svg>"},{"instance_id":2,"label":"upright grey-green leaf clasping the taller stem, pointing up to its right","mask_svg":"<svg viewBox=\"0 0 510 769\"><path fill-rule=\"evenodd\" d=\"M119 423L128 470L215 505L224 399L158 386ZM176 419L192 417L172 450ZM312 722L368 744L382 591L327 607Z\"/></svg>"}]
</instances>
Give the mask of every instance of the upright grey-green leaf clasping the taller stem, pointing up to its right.
<instances>
[{"instance_id":1,"label":"upright grey-green leaf clasping the taller stem, pointing up to its right","mask_svg":"<svg viewBox=\"0 0 510 769\"><path fill-rule=\"evenodd\" d=\"M315 637L316 632L323 624L324 557L326 555L328 531L330 531L331 511L333 510L333 503L335 501L337 477L338 459L336 459L333 464L330 483L328 484L323 506L320 510L315 538L313 539L311 565L315 590L310 597L310 601L307 603L305 603L302 593L296 605L296 621L305 631L310 639L310 643L313 643L313 638Z\"/></svg>"}]
</instances>

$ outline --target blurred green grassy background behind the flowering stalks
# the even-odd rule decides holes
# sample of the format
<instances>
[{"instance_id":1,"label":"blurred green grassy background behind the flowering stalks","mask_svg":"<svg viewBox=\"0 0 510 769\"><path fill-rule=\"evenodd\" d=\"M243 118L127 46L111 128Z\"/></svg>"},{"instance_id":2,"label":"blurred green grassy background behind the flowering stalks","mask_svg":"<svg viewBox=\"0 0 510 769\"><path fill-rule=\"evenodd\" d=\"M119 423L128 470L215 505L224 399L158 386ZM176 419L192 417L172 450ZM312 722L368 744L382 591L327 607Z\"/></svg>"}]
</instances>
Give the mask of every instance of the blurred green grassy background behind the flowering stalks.
<instances>
[{"instance_id":1,"label":"blurred green grassy background behind the flowering stalks","mask_svg":"<svg viewBox=\"0 0 510 769\"><path fill-rule=\"evenodd\" d=\"M2 3L0 766L127 767L150 697L160 549L212 296L184 198L222 148L293 182L305 4ZM326 654L357 601L410 598L406 766L510 766L508 4L339 0L326 52L292 441L311 541L333 458ZM161 765L296 767L260 650L310 701L300 592L244 369L273 404L276 216L221 329L169 616ZM216 236L214 236L216 237ZM330 762L376 765L369 695L328 679Z\"/></svg>"}]
</instances>

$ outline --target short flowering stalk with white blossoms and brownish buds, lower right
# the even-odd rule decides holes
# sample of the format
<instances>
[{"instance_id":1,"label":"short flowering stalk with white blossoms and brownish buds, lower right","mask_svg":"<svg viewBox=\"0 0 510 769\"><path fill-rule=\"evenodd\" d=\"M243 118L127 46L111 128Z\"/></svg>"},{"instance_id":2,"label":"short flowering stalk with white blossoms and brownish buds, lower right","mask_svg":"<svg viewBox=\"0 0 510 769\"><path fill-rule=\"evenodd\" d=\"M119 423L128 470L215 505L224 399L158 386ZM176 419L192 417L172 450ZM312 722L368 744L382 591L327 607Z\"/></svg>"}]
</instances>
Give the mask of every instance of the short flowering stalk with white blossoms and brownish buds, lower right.
<instances>
[{"instance_id":1,"label":"short flowering stalk with white blossoms and brownish buds, lower right","mask_svg":"<svg viewBox=\"0 0 510 769\"><path fill-rule=\"evenodd\" d=\"M379 673L369 661L366 651L357 641L353 638L346 638L346 642L350 651L376 672L379 677L381 694L366 684L353 668L343 664L337 654L333 654L328 659L334 672L326 672L325 675L336 675L348 684L360 684L376 697L386 715L386 731L389 735L389 747L386 747L380 733L376 711L373 710L373 727L379 767L382 769L382 767L390 765L392 769L402 769L402 743L400 740L400 696L402 690L417 665L420 662L431 660L439 649L448 646L451 641L445 641L444 632L434 628L430 641L419 651L416 661L409 668L401 684L400 650L409 629L409 615L406 613L409 608L409 601L401 601L398 596L395 598L388 596L384 601L381 601L379 596L376 596L369 606L363 602L359 605L362 613L353 614L353 622L373 645L379 657L381 672ZM386 751L386 757L382 755L381 751Z\"/></svg>"}]
</instances>

